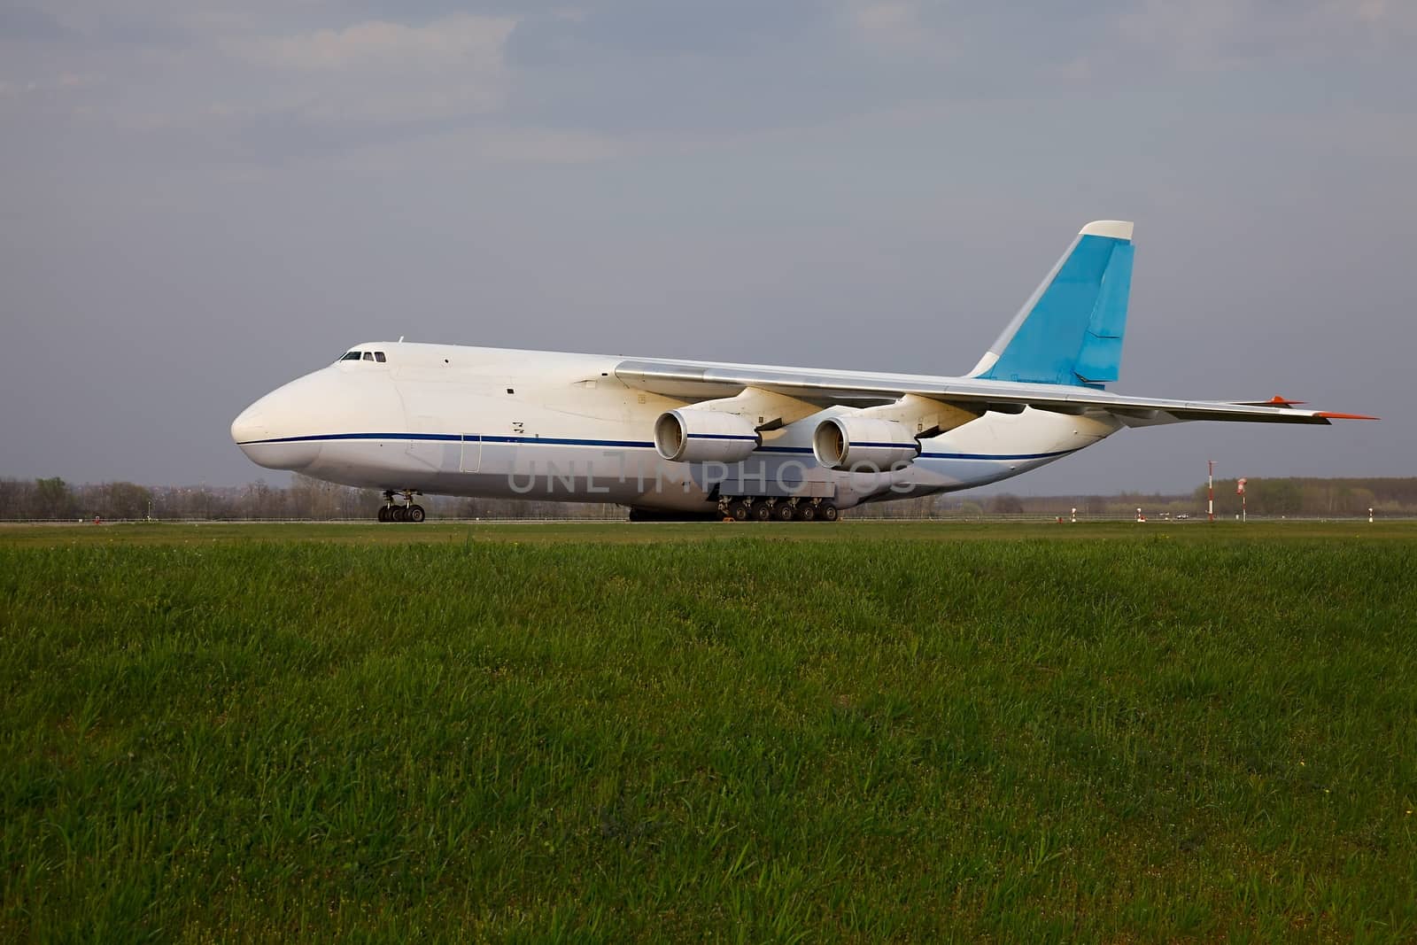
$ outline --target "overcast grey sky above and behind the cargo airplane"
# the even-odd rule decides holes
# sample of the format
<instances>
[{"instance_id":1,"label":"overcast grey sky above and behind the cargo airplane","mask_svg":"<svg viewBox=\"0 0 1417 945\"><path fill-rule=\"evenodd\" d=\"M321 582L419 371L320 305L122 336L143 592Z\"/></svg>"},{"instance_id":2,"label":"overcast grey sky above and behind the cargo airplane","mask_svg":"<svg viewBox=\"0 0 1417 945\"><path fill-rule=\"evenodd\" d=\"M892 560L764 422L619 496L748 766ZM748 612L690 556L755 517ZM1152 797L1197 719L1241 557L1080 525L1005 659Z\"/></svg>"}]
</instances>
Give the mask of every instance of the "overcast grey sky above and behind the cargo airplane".
<instances>
[{"instance_id":1,"label":"overcast grey sky above and behind the cargo airplane","mask_svg":"<svg viewBox=\"0 0 1417 945\"><path fill-rule=\"evenodd\" d=\"M401 334L958 374L1097 218L1114 390L1384 419L1010 489L1417 475L1414 89L1410 0L0 0L0 475L283 480L232 417Z\"/></svg>"}]
</instances>

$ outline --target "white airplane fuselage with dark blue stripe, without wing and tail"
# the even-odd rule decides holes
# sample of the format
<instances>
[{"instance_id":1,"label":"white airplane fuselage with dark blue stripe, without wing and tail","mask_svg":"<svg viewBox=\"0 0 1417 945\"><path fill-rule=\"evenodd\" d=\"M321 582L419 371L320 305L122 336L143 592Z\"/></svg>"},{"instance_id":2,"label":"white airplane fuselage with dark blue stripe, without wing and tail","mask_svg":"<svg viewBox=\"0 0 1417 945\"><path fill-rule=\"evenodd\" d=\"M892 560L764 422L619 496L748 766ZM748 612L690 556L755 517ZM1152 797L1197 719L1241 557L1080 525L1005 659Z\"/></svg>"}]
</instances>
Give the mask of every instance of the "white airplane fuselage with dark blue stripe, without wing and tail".
<instances>
[{"instance_id":1,"label":"white airplane fuselage with dark blue stripe, without wing and tail","mask_svg":"<svg viewBox=\"0 0 1417 945\"><path fill-rule=\"evenodd\" d=\"M762 431L738 462L673 462L655 448L655 422L694 398L623 383L615 371L626 358L411 343L356 350L383 360L340 360L261 398L232 424L241 449L262 466L380 490L711 513L724 496L815 497L846 509L969 489L1121 426L1101 412L986 412L922 438L911 462L836 470L816 460L812 435L854 408L829 405Z\"/></svg>"}]
</instances>

